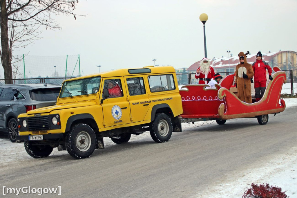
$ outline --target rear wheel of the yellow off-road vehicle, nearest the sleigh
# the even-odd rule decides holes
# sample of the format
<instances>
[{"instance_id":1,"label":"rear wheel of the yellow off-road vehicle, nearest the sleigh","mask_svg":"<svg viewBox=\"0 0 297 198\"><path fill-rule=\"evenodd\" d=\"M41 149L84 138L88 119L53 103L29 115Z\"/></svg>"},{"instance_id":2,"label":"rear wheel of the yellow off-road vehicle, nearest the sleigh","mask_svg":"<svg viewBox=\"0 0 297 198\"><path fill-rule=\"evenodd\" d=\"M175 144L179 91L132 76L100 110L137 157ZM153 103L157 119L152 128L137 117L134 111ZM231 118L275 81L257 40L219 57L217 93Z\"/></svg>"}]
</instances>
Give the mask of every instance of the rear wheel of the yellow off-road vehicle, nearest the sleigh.
<instances>
[{"instance_id":1,"label":"rear wheel of the yellow off-road vehicle, nearest the sleigh","mask_svg":"<svg viewBox=\"0 0 297 198\"><path fill-rule=\"evenodd\" d=\"M168 115L158 113L155 120L150 125L151 138L157 142L168 142L172 134L172 122Z\"/></svg>"}]
</instances>

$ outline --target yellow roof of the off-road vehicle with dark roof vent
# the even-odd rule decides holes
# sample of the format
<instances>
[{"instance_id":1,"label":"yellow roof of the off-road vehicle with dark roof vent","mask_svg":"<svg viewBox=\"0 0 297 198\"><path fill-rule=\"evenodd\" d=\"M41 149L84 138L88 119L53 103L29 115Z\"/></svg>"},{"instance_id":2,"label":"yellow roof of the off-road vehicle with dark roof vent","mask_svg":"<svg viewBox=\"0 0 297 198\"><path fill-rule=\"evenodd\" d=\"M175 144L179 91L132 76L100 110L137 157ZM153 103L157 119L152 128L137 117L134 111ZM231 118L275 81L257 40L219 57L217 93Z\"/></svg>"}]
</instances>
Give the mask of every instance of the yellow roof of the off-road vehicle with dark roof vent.
<instances>
[{"instance_id":1,"label":"yellow roof of the off-road vehicle with dark roof vent","mask_svg":"<svg viewBox=\"0 0 297 198\"><path fill-rule=\"evenodd\" d=\"M128 70L134 70L134 69L143 69L143 68L149 68L151 70L151 73L139 73L139 74L130 74ZM89 77L95 77L95 76L101 76L102 78L107 77L116 77L116 76L132 76L132 75L141 75L141 74L154 74L154 73L175 73L175 69L172 66L165 66L165 67L154 67L154 66L146 66L146 67L138 67L138 68L128 68L128 69L118 69L108 72L101 72L101 73L95 73L90 74L86 76L80 76L76 78L67 79L65 81L73 81L77 79L82 78L89 78Z\"/></svg>"}]
</instances>

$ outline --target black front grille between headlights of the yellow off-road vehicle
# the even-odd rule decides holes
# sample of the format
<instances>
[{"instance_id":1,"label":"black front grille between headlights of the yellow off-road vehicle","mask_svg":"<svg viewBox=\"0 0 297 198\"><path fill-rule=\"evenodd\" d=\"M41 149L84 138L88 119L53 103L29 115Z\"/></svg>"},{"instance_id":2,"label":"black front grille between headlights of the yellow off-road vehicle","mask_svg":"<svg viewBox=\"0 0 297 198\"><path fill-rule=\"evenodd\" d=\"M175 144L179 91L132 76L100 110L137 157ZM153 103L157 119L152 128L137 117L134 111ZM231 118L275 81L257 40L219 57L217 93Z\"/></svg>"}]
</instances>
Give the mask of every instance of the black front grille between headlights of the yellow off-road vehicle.
<instances>
[{"instance_id":1,"label":"black front grille between headlights of the yellow off-road vehicle","mask_svg":"<svg viewBox=\"0 0 297 198\"><path fill-rule=\"evenodd\" d=\"M49 130L48 116L27 117L29 131Z\"/></svg>"}]
</instances>

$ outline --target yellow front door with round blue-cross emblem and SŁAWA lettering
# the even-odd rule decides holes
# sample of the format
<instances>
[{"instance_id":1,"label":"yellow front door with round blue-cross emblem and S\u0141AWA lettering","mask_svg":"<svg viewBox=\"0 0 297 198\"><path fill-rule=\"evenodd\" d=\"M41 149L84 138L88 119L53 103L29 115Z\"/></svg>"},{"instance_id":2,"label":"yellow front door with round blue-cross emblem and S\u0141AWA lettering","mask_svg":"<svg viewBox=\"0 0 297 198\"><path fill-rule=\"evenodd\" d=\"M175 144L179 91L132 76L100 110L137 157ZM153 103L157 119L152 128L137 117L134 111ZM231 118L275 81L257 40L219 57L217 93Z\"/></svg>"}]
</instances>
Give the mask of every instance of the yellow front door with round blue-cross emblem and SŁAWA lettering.
<instances>
[{"instance_id":1,"label":"yellow front door with round blue-cross emblem and S\u0141AWA lettering","mask_svg":"<svg viewBox=\"0 0 297 198\"><path fill-rule=\"evenodd\" d=\"M116 84L114 84L114 81ZM126 87L123 86L123 82L123 77L103 79L103 88L109 89L110 92L110 97L103 100L103 103L101 104L104 127L112 127L131 123L130 106L129 102L127 101ZM111 84L114 86L111 87ZM101 95L101 97L103 97L103 95Z\"/></svg>"}]
</instances>

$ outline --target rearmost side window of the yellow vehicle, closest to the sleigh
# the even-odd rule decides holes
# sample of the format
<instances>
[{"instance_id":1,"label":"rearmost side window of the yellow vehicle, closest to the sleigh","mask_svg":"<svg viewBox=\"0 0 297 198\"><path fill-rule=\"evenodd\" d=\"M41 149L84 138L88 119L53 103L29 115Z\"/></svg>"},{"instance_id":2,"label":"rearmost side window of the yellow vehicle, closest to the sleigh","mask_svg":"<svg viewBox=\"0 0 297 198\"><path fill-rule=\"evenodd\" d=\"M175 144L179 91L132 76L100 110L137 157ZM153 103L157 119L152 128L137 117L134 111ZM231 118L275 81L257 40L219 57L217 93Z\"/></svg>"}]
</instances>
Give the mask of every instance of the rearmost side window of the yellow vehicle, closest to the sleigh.
<instances>
[{"instance_id":1,"label":"rearmost side window of the yellow vehicle, closest to the sleigh","mask_svg":"<svg viewBox=\"0 0 297 198\"><path fill-rule=\"evenodd\" d=\"M161 92L175 89L172 74L149 76L148 78L151 92Z\"/></svg>"}]
</instances>

